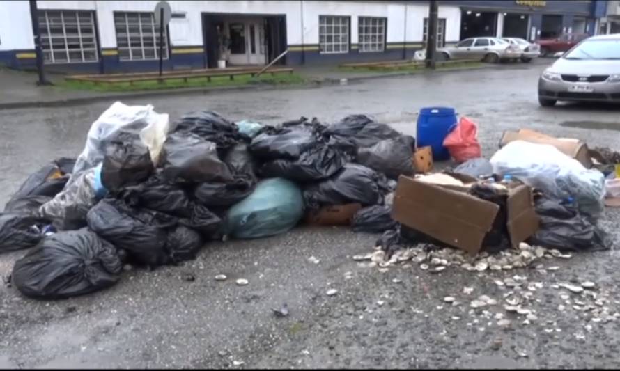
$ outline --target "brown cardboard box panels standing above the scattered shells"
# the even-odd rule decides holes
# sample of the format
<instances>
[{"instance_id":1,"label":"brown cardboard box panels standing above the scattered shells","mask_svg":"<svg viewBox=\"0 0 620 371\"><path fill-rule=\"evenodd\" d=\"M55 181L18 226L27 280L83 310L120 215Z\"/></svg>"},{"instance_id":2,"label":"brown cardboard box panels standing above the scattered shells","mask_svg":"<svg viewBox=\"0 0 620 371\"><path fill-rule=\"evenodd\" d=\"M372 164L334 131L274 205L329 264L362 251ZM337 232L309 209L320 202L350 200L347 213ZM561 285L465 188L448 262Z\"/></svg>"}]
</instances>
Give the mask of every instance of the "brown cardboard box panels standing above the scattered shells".
<instances>
[{"instance_id":1,"label":"brown cardboard box panels standing above the scattered shells","mask_svg":"<svg viewBox=\"0 0 620 371\"><path fill-rule=\"evenodd\" d=\"M519 184L509 190L506 202L509 239L514 248L538 230L532 189ZM420 182L401 175L394 195L392 218L444 244L474 255L482 248L499 205L440 184Z\"/></svg>"}]
</instances>

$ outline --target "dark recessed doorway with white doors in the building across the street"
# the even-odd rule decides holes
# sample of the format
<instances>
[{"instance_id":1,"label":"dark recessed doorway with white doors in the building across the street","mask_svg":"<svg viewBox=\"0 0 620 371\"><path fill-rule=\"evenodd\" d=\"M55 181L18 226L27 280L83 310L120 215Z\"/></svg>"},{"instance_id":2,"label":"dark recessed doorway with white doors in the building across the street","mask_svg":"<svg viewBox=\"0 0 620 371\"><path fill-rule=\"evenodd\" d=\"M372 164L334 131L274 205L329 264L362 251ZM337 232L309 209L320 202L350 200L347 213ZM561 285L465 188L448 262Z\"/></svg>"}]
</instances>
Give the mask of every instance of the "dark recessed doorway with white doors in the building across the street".
<instances>
[{"instance_id":1,"label":"dark recessed doorway with white doors in the building across the street","mask_svg":"<svg viewBox=\"0 0 620 371\"><path fill-rule=\"evenodd\" d=\"M226 65L263 65L286 50L286 15L203 13L202 24L207 68L217 68L220 58Z\"/></svg>"}]
</instances>

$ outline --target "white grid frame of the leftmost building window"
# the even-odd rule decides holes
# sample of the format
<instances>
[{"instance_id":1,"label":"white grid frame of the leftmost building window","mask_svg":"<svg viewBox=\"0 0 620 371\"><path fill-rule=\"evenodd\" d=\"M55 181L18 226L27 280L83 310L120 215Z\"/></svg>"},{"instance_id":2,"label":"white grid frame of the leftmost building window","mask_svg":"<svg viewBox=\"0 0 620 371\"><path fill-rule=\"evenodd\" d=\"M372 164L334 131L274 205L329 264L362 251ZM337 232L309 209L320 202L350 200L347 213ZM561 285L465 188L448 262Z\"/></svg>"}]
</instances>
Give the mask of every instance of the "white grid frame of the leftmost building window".
<instances>
[{"instance_id":1,"label":"white grid frame of the leftmost building window","mask_svg":"<svg viewBox=\"0 0 620 371\"><path fill-rule=\"evenodd\" d=\"M49 23L49 13L59 13L61 18L61 24L50 24ZM65 22L65 13L72 13L75 16L75 25L72 25L71 22ZM88 24L82 24L80 22L80 16L84 16L88 14L89 22ZM40 18L45 18L45 24L41 24ZM41 52L43 55L43 63L47 65L60 65L60 64L75 64L75 63L99 63L101 61L100 56L100 45L99 45L99 34L98 34L98 24L97 24L97 13L95 10L79 10L79 9L38 9L37 10L37 22L39 25L39 29L43 30L40 35L41 42ZM70 26L67 26L70 24ZM82 29L85 26L90 26L91 33L85 33L87 36L83 36ZM62 34L52 33L52 28L62 28ZM72 34L70 36L67 35L68 28L75 28L77 30L77 36ZM85 42L85 39L92 39L92 42ZM79 42L79 49L69 48L70 44L74 44L75 41L70 42L70 40L77 39ZM45 40L45 42L44 42ZM62 40L64 47L60 49L54 50L54 40ZM49 49L45 48L45 45L49 46ZM91 44L92 47L84 47L84 44ZM55 53L64 52L66 60L56 61ZM71 53L79 52L80 60L72 60ZM86 59L85 52L92 53L93 59ZM46 55L49 55L49 58L46 58Z\"/></svg>"}]
</instances>

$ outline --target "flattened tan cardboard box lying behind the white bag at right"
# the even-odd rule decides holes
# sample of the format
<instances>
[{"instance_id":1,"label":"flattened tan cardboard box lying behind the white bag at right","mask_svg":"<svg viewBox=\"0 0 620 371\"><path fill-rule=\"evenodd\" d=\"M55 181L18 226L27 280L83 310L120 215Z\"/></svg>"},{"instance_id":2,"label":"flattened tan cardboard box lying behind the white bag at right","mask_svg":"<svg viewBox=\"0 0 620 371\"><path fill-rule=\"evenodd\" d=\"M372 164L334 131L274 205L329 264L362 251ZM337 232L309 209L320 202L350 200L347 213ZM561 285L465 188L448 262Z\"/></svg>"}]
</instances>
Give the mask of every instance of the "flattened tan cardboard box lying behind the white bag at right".
<instances>
[{"instance_id":1,"label":"flattened tan cardboard box lying behind the white bag at right","mask_svg":"<svg viewBox=\"0 0 620 371\"><path fill-rule=\"evenodd\" d=\"M560 152L564 153L564 155L576 159L586 168L591 168L592 166L587 144L579 141L578 139L555 138L554 136L534 132L534 130L520 129L518 132L504 132L502 139L499 141L499 148L504 147L504 145L512 141L550 144L557 148Z\"/></svg>"}]
</instances>

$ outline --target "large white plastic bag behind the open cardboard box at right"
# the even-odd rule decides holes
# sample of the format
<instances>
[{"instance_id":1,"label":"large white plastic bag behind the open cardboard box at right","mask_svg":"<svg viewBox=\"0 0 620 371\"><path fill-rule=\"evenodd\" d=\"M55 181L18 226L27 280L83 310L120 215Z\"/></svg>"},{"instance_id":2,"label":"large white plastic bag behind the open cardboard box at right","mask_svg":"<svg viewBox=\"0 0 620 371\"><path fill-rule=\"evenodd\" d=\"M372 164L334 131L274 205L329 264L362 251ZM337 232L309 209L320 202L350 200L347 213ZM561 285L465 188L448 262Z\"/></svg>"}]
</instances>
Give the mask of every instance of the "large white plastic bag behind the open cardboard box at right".
<instances>
[{"instance_id":1,"label":"large white plastic bag behind the open cardboard box at right","mask_svg":"<svg viewBox=\"0 0 620 371\"><path fill-rule=\"evenodd\" d=\"M603 173L584 168L552 145L513 141L495 152L490 162L494 173L512 175L547 196L560 200L572 197L584 214L598 216L603 212Z\"/></svg>"}]
</instances>

